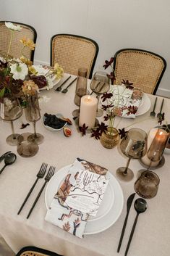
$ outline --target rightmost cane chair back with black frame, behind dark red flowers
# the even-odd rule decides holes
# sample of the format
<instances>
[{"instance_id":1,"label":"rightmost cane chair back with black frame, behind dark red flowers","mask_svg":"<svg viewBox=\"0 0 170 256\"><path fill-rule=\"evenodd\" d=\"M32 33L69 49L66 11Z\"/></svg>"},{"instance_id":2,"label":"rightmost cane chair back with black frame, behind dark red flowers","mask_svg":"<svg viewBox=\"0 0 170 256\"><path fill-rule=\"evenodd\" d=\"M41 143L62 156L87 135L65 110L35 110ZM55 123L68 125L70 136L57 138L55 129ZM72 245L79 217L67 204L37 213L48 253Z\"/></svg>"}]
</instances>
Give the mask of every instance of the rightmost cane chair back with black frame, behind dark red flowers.
<instances>
[{"instance_id":1,"label":"rightmost cane chair back with black frame, behind dark red flowers","mask_svg":"<svg viewBox=\"0 0 170 256\"><path fill-rule=\"evenodd\" d=\"M140 49L122 49L114 56L116 82L129 80L133 86L148 94L156 94L166 61L158 54Z\"/></svg>"}]
</instances>

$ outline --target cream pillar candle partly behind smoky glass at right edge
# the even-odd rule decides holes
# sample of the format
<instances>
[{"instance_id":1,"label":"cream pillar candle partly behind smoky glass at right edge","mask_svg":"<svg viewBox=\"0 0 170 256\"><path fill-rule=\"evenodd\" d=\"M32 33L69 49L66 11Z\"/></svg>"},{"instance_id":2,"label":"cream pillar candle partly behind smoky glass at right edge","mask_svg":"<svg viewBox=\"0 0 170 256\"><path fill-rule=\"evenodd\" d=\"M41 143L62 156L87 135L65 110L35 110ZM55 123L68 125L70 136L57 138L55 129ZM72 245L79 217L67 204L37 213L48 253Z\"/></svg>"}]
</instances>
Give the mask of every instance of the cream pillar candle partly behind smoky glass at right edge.
<instances>
[{"instance_id":1,"label":"cream pillar candle partly behind smoky glass at right edge","mask_svg":"<svg viewBox=\"0 0 170 256\"><path fill-rule=\"evenodd\" d=\"M148 140L147 140L147 148L148 149L150 148L150 145L151 145L153 139L155 138L157 131L158 131L158 128L153 128L148 133ZM144 163L144 165L147 165L147 166L150 165L150 159L147 157L147 154L145 154L145 156L141 158L141 161ZM151 162L150 167L156 167L158 165L158 163L159 163L159 161Z\"/></svg>"}]
</instances>

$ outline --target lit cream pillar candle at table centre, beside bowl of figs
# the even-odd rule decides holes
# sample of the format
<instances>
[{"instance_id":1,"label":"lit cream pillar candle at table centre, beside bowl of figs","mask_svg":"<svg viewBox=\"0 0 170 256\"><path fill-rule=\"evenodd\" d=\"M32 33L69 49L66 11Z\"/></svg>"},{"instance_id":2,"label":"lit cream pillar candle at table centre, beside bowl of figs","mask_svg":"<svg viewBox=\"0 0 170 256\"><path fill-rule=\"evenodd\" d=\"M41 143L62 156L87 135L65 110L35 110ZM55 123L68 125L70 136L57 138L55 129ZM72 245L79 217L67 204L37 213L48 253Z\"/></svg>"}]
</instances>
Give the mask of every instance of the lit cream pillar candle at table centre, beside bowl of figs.
<instances>
[{"instance_id":1,"label":"lit cream pillar candle at table centre, beside bowl of figs","mask_svg":"<svg viewBox=\"0 0 170 256\"><path fill-rule=\"evenodd\" d=\"M81 98L79 126L85 123L88 129L95 125L95 117L98 106L98 100L94 96L85 95Z\"/></svg>"}]
</instances>

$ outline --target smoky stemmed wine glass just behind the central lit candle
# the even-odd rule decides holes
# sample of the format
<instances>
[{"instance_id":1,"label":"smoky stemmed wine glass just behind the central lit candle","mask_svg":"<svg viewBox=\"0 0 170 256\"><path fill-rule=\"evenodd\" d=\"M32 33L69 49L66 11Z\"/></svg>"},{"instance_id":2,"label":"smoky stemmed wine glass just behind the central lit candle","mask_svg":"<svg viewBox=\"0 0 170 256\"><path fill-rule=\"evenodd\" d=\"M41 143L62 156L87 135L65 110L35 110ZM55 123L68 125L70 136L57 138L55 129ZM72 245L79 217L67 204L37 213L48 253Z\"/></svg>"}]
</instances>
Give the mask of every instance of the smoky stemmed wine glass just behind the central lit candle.
<instances>
[{"instance_id":1,"label":"smoky stemmed wine glass just behind the central lit candle","mask_svg":"<svg viewBox=\"0 0 170 256\"><path fill-rule=\"evenodd\" d=\"M90 89L97 95L98 102L101 94L106 94L109 91L109 78L106 72L97 71L93 75L92 82L90 83ZM97 110L97 117L101 117L103 115L103 110Z\"/></svg>"}]
</instances>

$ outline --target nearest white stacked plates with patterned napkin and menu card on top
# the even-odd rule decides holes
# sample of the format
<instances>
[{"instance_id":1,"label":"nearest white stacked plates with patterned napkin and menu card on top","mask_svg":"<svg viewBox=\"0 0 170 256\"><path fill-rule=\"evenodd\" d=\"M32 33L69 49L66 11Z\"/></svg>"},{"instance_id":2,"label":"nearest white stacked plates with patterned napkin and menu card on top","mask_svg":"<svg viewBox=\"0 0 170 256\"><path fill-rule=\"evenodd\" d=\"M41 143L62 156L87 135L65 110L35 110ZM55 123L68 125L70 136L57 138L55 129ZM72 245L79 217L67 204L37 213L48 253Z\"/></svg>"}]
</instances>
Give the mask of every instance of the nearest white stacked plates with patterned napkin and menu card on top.
<instances>
[{"instance_id":1,"label":"nearest white stacked plates with patterned napkin and menu card on top","mask_svg":"<svg viewBox=\"0 0 170 256\"><path fill-rule=\"evenodd\" d=\"M104 196L102 180L105 186L108 183ZM122 212L124 199L121 186L106 168L77 158L51 178L46 187L45 202L45 220L72 234L72 223L80 223L83 229L80 228L79 233L77 228L79 235L75 235L82 237L113 225Z\"/></svg>"}]
</instances>

